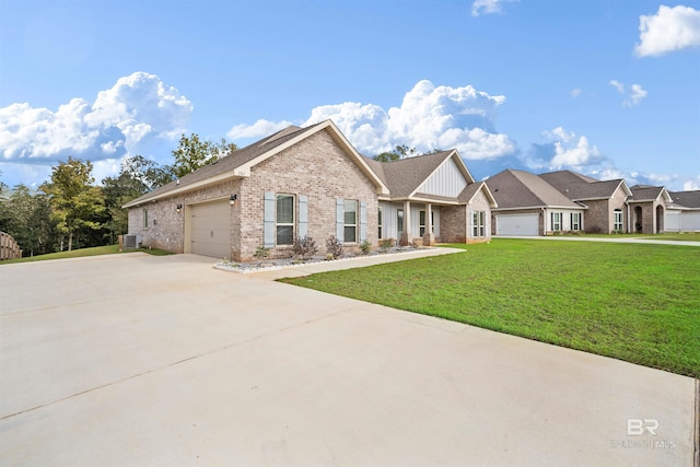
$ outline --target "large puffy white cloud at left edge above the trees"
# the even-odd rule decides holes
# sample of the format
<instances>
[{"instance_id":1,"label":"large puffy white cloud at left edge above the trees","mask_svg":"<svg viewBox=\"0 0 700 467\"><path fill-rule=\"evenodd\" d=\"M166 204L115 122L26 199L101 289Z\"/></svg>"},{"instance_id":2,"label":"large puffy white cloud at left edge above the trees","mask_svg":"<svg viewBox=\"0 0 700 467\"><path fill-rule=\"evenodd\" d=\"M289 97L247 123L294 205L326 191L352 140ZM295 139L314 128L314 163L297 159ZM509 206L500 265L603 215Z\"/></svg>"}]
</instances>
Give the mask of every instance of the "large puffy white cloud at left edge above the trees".
<instances>
[{"instance_id":1,"label":"large puffy white cloud at left edge above the trees","mask_svg":"<svg viewBox=\"0 0 700 467\"><path fill-rule=\"evenodd\" d=\"M56 112L27 103L0 108L0 154L5 163L48 165L68 155L116 160L147 139L176 137L191 112L175 87L136 72L101 91L93 103L75 97Z\"/></svg>"}]
</instances>

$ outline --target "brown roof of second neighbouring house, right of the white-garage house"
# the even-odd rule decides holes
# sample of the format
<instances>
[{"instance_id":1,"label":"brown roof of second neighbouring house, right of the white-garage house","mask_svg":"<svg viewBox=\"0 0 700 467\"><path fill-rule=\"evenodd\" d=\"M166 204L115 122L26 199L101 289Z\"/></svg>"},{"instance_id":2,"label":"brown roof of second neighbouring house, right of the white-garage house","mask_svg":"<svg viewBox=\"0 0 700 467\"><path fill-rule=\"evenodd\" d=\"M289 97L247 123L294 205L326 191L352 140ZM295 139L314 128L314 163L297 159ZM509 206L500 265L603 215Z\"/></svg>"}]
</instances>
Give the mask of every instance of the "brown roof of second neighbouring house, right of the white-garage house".
<instances>
[{"instance_id":1,"label":"brown roof of second neighbouring house, right of the white-garage house","mask_svg":"<svg viewBox=\"0 0 700 467\"><path fill-rule=\"evenodd\" d=\"M549 172L539 176L572 201L609 199L620 188L627 196L632 195L622 178L597 180L571 171Z\"/></svg>"}]
</instances>

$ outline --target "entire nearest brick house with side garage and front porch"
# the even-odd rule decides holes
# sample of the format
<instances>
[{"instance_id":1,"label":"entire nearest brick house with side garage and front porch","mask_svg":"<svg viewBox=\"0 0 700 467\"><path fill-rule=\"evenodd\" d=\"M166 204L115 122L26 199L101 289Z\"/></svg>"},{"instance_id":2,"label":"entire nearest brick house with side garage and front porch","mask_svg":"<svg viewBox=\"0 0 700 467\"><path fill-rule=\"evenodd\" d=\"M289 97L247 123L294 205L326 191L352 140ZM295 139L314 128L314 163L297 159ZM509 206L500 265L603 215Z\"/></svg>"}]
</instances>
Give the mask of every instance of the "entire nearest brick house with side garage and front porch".
<instances>
[{"instance_id":1,"label":"entire nearest brick house with side garage and front porch","mask_svg":"<svg viewBox=\"0 0 700 467\"><path fill-rule=\"evenodd\" d=\"M322 250L331 236L350 248L421 233L424 243L489 240L481 219L495 203L457 152L416 159L369 160L330 120L292 126L129 201L129 234L142 245L238 261L261 246L288 256L304 236Z\"/></svg>"}]
</instances>

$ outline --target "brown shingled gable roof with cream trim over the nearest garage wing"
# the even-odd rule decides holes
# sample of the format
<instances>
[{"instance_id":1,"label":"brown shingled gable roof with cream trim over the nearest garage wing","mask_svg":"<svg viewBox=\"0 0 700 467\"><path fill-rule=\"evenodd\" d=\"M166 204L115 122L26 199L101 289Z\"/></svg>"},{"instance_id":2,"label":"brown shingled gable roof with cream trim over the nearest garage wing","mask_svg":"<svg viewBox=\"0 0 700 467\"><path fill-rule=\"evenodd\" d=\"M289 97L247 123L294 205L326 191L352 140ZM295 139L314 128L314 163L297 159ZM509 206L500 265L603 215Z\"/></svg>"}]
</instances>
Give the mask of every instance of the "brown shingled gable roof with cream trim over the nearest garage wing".
<instances>
[{"instance_id":1,"label":"brown shingled gable roof with cream trim over the nearest garage wing","mask_svg":"<svg viewBox=\"0 0 700 467\"><path fill-rule=\"evenodd\" d=\"M151 192L136 198L124 205L124 208L131 208L147 201L155 201L156 199L166 198L178 192L189 191L201 186L211 185L230 178L247 177L250 175L250 168L254 165L323 130L328 131L331 138L343 147L353 162L375 185L377 192L388 192L386 185L375 174L375 172L370 168L365 157L354 150L352 144L350 144L331 120L325 120L306 128L299 128L295 126L287 127L272 136L234 151L231 154L187 174L179 179L173 180Z\"/></svg>"}]
</instances>

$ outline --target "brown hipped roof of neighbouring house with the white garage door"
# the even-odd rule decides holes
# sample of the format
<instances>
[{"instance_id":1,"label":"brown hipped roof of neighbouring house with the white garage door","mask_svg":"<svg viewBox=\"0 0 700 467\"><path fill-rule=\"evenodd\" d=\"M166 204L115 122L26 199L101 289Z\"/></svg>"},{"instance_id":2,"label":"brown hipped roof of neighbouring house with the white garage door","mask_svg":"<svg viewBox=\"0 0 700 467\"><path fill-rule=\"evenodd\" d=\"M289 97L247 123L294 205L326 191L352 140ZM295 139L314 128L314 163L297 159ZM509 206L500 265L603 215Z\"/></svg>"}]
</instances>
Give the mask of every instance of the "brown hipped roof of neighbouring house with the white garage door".
<instances>
[{"instance_id":1,"label":"brown hipped roof of neighbouring house with the white garage door","mask_svg":"<svg viewBox=\"0 0 700 467\"><path fill-rule=\"evenodd\" d=\"M505 170L486 180L498 209L570 208L583 209L535 174Z\"/></svg>"}]
</instances>

